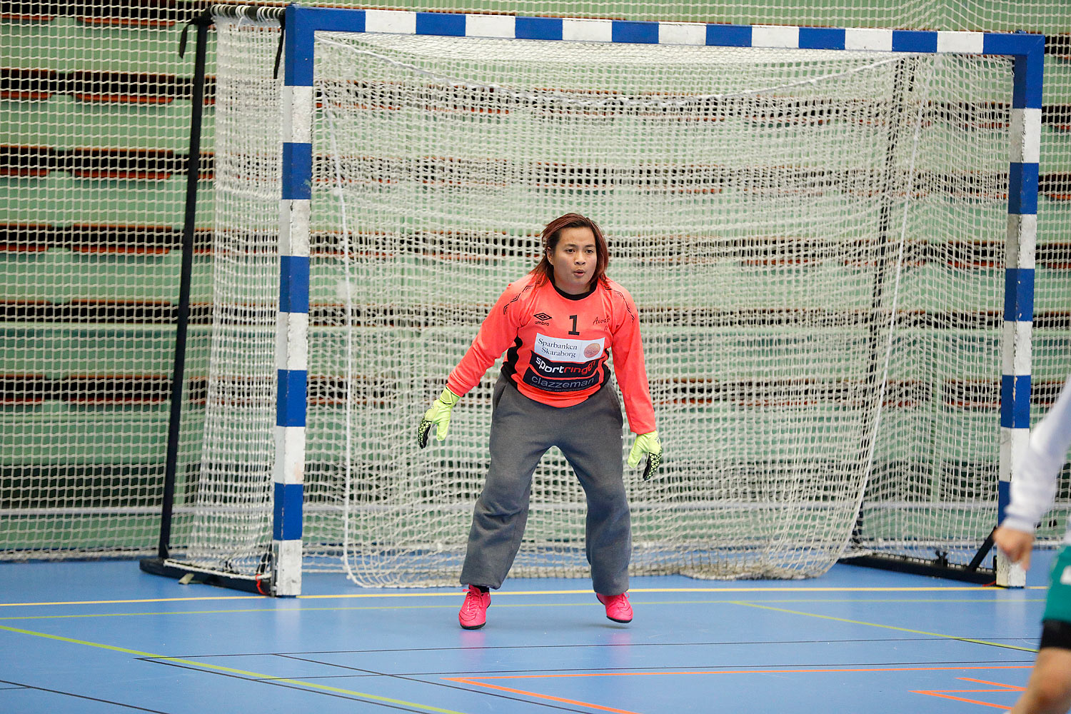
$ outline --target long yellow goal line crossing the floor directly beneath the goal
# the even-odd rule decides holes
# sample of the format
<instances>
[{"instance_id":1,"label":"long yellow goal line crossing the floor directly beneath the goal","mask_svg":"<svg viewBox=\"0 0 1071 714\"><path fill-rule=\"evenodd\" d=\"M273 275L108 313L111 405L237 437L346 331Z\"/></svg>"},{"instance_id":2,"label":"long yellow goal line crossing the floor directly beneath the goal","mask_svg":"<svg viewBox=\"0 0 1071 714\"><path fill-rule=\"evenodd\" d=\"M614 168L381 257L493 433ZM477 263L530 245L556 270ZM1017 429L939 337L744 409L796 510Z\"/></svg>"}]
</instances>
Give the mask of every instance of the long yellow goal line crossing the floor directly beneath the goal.
<instances>
[{"instance_id":1,"label":"long yellow goal line crossing the floor directly beneath the goal","mask_svg":"<svg viewBox=\"0 0 1071 714\"><path fill-rule=\"evenodd\" d=\"M1045 590L1049 586L1027 586L1021 590ZM920 588L633 588L635 593L775 593L775 592L831 592L831 593L883 593L883 592L1013 592L1006 588L987 586L950 586ZM404 593L335 593L328 595L298 595L296 599L351 599L361 597L457 597L457 591L450 592L404 592ZM515 595L590 595L591 590L523 590L496 592L496 597ZM46 607L49 605L126 605L137 603L188 603L196 601L265 599L263 595L206 595L203 597L150 597L140 599L85 599L55 601L41 603L0 603L0 607ZM283 602L289 598L282 598Z\"/></svg>"}]
</instances>

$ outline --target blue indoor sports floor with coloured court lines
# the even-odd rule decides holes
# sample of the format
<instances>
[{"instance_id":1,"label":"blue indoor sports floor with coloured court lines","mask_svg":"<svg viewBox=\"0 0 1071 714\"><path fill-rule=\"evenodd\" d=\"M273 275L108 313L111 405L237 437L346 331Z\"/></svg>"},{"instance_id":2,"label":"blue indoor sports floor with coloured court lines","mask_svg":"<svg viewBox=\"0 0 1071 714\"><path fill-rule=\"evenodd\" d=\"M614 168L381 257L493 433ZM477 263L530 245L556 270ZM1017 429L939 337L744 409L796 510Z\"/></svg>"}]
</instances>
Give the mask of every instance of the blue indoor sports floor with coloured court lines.
<instances>
[{"instance_id":1,"label":"blue indoor sports floor with coloured court lines","mask_svg":"<svg viewBox=\"0 0 1071 714\"><path fill-rule=\"evenodd\" d=\"M1025 590L836 565L813 580L507 580L486 627L461 589L306 575L271 599L133 561L0 565L0 713L816 713L1008 709L1034 660L1052 551Z\"/></svg>"}]
</instances>

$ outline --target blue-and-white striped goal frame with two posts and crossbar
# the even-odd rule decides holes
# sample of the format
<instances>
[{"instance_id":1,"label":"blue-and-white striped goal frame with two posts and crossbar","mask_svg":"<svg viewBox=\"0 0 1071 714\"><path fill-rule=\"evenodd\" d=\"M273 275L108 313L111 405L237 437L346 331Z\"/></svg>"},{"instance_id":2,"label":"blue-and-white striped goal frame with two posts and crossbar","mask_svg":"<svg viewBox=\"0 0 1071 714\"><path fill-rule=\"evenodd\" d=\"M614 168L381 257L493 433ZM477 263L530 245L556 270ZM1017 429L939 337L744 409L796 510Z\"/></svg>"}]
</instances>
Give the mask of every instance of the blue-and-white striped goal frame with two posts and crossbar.
<instances>
[{"instance_id":1,"label":"blue-and-white striped goal frame with two posts and crossbar","mask_svg":"<svg viewBox=\"0 0 1071 714\"><path fill-rule=\"evenodd\" d=\"M251 18L278 17L278 9L223 6ZM1027 443L1030 416L1030 343L1038 162L1041 132L1044 39L1035 34L901 31L788 26L625 21L379 10L307 7L284 13L283 166L278 230L276 332L277 409L272 526L272 593L301 592L302 508L308 400L310 243L314 149L315 54L318 32L395 33L590 42L863 50L874 52L1006 56L1014 62L1011 146L1008 148L1008 222L1005 252L1002 377L999 429L999 498L1002 515L1009 484ZM982 238L982 237L980 237ZM990 237L999 240L997 237ZM444 375L443 375L444 377ZM420 405L398 405L416 410ZM418 414L413 411L413 419ZM413 422L416 428L416 421ZM858 505L858 504L857 504ZM999 518L999 515L998 515ZM996 523L994 523L995 526ZM457 533L461 540L463 533ZM999 584L1021 587L1022 571L996 561Z\"/></svg>"}]
</instances>

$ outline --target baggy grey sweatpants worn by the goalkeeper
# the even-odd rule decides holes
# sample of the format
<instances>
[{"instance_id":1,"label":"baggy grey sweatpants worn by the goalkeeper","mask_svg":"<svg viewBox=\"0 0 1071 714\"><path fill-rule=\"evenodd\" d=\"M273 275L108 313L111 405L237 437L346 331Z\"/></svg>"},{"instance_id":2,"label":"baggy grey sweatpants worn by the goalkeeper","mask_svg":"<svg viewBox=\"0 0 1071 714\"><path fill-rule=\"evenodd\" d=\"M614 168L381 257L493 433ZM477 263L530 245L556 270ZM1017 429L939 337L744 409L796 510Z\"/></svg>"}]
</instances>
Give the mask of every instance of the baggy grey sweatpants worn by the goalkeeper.
<instances>
[{"instance_id":1,"label":"baggy grey sweatpants worn by the goalkeeper","mask_svg":"<svg viewBox=\"0 0 1071 714\"><path fill-rule=\"evenodd\" d=\"M621 464L621 402L613 383L578 405L549 407L499 377L493 405L491 466L472 514L462 584L502 584L528 521L532 473L557 446L587 497L586 551L594 591L627 591L632 520Z\"/></svg>"}]
</instances>

